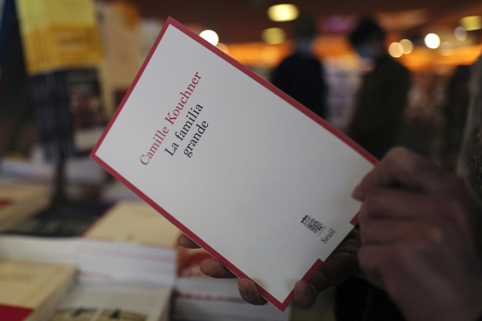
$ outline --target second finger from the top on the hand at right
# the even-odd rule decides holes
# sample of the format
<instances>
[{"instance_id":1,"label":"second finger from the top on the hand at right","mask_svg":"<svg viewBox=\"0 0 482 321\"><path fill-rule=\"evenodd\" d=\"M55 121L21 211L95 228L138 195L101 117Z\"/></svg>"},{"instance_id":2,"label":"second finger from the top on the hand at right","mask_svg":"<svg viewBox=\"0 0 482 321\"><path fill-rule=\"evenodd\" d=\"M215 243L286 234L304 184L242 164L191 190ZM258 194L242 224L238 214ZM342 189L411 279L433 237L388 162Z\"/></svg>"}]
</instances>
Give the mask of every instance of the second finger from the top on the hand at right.
<instances>
[{"instance_id":1,"label":"second finger from the top on the hand at right","mask_svg":"<svg viewBox=\"0 0 482 321\"><path fill-rule=\"evenodd\" d=\"M437 195L413 193L400 189L374 188L367 193L360 208L360 226L371 219L412 219L434 213L439 201Z\"/></svg>"}]
</instances>

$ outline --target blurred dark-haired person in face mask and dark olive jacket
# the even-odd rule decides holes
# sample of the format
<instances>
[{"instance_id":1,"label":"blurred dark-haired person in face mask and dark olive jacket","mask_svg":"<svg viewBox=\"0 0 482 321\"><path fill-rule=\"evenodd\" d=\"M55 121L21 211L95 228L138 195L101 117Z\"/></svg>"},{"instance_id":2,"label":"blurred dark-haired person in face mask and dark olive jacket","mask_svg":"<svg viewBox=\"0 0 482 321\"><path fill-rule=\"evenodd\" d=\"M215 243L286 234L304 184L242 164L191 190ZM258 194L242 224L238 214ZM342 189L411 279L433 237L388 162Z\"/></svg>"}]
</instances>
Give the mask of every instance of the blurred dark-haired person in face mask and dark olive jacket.
<instances>
[{"instance_id":1,"label":"blurred dark-haired person in face mask and dark olive jacket","mask_svg":"<svg viewBox=\"0 0 482 321\"><path fill-rule=\"evenodd\" d=\"M362 61L373 67L363 76L348 136L381 158L395 143L410 73L389 56L385 32L373 20L361 20L348 39Z\"/></svg>"}]
</instances>

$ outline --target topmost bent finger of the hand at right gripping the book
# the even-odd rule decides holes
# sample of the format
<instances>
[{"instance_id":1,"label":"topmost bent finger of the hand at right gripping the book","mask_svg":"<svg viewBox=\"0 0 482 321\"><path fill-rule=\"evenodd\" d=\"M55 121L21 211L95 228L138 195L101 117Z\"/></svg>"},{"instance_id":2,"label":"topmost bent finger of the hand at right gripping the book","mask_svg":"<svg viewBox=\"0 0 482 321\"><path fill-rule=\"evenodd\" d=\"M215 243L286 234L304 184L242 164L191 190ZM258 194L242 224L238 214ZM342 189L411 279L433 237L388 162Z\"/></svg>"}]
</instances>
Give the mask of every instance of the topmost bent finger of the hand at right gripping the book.
<instances>
[{"instance_id":1,"label":"topmost bent finger of the hand at right gripping the book","mask_svg":"<svg viewBox=\"0 0 482 321\"><path fill-rule=\"evenodd\" d=\"M372 188L394 185L417 191L440 191L447 177L428 159L405 148L393 148L353 190L352 197L363 201Z\"/></svg>"}]
</instances>

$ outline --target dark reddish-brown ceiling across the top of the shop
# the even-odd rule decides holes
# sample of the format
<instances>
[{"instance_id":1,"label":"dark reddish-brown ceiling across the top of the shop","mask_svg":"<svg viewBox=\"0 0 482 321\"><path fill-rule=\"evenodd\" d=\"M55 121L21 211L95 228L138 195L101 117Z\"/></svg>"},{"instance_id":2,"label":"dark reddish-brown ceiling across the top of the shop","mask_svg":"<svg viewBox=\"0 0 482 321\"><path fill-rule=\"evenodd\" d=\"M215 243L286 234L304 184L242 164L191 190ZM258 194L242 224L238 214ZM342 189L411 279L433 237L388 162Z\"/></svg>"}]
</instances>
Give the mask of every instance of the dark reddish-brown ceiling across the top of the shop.
<instances>
[{"instance_id":1,"label":"dark reddish-brown ceiling across the top of the shop","mask_svg":"<svg viewBox=\"0 0 482 321\"><path fill-rule=\"evenodd\" d=\"M267 17L267 9L284 1L273 0L183 0L132 1L143 17L165 20L168 16L193 29L212 29L224 43L261 41L265 28L280 27L290 35L291 24L276 23ZM322 22L339 15L351 18L377 15L382 25L394 32L414 33L430 24L456 25L466 15L482 14L480 0L293 0L301 12Z\"/></svg>"}]
</instances>

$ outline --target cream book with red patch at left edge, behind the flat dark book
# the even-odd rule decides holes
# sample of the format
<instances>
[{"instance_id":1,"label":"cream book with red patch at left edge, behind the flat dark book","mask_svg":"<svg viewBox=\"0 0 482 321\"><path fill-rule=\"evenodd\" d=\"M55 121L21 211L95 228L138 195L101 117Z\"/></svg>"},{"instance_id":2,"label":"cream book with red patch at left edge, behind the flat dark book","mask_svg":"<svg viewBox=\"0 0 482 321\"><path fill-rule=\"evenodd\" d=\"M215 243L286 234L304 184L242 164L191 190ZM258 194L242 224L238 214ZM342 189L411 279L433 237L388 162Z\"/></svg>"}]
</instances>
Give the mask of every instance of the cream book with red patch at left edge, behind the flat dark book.
<instances>
[{"instance_id":1,"label":"cream book with red patch at left edge, behind the flat dark book","mask_svg":"<svg viewBox=\"0 0 482 321\"><path fill-rule=\"evenodd\" d=\"M28 183L0 181L0 231L37 214L50 204L50 189Z\"/></svg>"}]
</instances>

